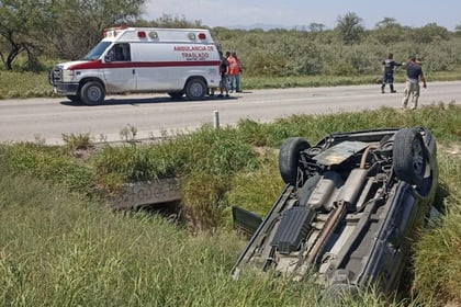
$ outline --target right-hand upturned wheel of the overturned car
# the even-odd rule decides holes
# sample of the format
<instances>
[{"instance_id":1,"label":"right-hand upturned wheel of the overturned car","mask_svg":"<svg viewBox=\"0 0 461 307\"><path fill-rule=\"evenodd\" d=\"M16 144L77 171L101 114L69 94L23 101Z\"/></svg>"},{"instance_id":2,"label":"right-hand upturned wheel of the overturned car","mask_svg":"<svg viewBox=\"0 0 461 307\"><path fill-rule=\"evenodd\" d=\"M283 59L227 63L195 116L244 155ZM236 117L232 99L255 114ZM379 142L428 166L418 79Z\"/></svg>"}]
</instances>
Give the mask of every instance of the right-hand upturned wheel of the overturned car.
<instances>
[{"instance_id":1,"label":"right-hand upturned wheel of the overturned car","mask_svg":"<svg viewBox=\"0 0 461 307\"><path fill-rule=\"evenodd\" d=\"M423 136L415 129L404 128L395 134L392 151L397 179L418 185L426 172L426 150Z\"/></svg>"}]
</instances>

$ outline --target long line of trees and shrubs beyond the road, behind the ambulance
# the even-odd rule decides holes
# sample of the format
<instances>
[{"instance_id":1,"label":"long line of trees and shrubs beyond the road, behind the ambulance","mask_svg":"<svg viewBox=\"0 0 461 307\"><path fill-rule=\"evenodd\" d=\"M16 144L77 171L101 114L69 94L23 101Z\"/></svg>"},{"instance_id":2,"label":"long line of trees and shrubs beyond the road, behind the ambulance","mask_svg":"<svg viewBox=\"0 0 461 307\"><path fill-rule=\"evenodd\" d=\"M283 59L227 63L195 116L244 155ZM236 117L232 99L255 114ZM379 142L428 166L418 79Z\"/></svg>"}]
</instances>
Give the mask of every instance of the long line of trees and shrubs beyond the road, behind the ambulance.
<instances>
[{"instance_id":1,"label":"long line of trees and shrubs beyond the road, behind the ambulance","mask_svg":"<svg viewBox=\"0 0 461 307\"><path fill-rule=\"evenodd\" d=\"M1 0L0 59L4 70L47 70L44 62L78 59L116 25L207 27L200 20L144 20L146 0ZM461 69L461 26L401 25L385 18L371 30L353 12L331 30L319 23L296 29L210 29L223 49L235 50L249 76L355 76L379 71L389 53L419 57L429 71ZM23 59L23 60L19 60Z\"/></svg>"}]
</instances>

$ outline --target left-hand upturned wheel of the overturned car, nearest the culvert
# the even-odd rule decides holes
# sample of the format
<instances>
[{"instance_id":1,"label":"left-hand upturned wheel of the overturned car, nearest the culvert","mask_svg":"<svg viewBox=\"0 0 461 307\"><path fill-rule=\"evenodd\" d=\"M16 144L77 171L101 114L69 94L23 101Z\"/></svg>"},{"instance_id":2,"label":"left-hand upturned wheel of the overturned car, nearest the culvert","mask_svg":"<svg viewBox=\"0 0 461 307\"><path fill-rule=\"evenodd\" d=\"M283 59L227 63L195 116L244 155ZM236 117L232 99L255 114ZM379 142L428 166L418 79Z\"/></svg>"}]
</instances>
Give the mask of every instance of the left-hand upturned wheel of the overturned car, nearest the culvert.
<instances>
[{"instance_id":1,"label":"left-hand upturned wheel of the overturned car, nearest the culvert","mask_svg":"<svg viewBox=\"0 0 461 307\"><path fill-rule=\"evenodd\" d=\"M292 185L297 183L302 177L302 169L299 168L301 151L310 147L307 140L301 137L290 137L282 144L279 152L279 170L285 183Z\"/></svg>"}]
</instances>

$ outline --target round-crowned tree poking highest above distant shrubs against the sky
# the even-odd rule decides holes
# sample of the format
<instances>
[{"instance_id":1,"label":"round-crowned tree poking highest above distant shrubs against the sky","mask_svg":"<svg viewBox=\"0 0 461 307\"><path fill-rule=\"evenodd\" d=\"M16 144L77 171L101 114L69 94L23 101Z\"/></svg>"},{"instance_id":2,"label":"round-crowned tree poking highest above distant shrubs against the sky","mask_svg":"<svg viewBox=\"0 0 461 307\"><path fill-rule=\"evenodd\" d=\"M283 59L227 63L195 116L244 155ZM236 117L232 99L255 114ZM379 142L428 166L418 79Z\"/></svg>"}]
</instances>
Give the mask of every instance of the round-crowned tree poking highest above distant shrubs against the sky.
<instances>
[{"instance_id":1,"label":"round-crowned tree poking highest above distant shrubs against the sky","mask_svg":"<svg viewBox=\"0 0 461 307\"><path fill-rule=\"evenodd\" d=\"M364 26L362 25L361 18L359 18L356 13L349 12L344 16L338 16L336 21L337 25L335 31L346 45L360 43L364 34Z\"/></svg>"}]
</instances>

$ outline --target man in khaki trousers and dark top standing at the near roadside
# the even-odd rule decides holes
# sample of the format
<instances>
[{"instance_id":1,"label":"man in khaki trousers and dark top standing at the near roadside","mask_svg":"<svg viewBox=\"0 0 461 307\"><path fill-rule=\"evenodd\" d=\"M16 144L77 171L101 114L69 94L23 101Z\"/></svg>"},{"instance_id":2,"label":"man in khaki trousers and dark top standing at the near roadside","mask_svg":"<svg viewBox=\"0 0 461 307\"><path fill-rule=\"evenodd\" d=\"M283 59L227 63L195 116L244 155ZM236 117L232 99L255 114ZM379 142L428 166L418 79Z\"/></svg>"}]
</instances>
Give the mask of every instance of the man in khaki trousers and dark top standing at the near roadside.
<instances>
[{"instance_id":1,"label":"man in khaki trousers and dark top standing at the near roadside","mask_svg":"<svg viewBox=\"0 0 461 307\"><path fill-rule=\"evenodd\" d=\"M406 65L406 82L404 98L402 100L402 110L406 109L408 104L409 96L412 96L412 106L411 110L416 110L418 106L419 99L419 82L423 82L423 88L426 89L426 78L423 73L423 67L420 61L416 61L414 56L408 58L408 64Z\"/></svg>"}]
</instances>

